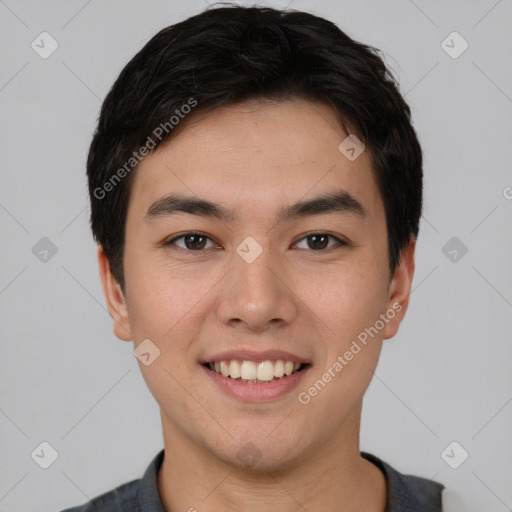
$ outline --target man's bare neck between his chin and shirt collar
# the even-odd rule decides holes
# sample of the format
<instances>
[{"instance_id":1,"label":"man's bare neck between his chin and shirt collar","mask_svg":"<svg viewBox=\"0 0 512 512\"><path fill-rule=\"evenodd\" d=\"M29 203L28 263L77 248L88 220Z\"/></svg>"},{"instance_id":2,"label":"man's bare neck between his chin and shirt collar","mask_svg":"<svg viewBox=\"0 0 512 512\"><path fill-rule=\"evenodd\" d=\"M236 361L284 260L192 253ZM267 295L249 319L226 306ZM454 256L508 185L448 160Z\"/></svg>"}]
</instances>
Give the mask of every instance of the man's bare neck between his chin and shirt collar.
<instances>
[{"instance_id":1,"label":"man's bare neck between his chin and shirt collar","mask_svg":"<svg viewBox=\"0 0 512 512\"><path fill-rule=\"evenodd\" d=\"M162 415L158 487L166 512L384 512L386 482L359 451L359 408L335 438L264 469L239 468L184 436Z\"/></svg>"}]
</instances>

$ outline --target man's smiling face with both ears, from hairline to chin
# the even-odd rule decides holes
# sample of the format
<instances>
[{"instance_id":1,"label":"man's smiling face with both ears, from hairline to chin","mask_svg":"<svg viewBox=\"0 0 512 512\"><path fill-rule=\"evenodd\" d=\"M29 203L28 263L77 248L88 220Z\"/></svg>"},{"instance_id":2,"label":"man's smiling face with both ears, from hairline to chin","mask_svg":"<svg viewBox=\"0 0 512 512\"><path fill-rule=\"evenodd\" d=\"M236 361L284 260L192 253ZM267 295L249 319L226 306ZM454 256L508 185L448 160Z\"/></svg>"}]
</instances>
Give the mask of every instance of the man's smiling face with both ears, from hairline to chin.
<instances>
[{"instance_id":1,"label":"man's smiling face with both ears, from hairline to chin","mask_svg":"<svg viewBox=\"0 0 512 512\"><path fill-rule=\"evenodd\" d=\"M139 164L124 294L99 261L116 335L150 340L164 438L268 469L357 436L414 241L390 276L370 155L346 137L323 104L250 102L196 114Z\"/></svg>"}]
</instances>

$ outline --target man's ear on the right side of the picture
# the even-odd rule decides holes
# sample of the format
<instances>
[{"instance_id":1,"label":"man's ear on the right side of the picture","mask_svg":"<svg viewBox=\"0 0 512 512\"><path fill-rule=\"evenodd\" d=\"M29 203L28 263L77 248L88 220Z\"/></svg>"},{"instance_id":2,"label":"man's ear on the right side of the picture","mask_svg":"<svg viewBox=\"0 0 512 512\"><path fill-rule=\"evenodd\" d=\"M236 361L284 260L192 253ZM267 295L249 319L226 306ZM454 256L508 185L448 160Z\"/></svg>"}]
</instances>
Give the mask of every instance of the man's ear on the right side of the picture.
<instances>
[{"instance_id":1,"label":"man's ear on the right side of the picture","mask_svg":"<svg viewBox=\"0 0 512 512\"><path fill-rule=\"evenodd\" d=\"M400 262L389 284L389 296L386 316L390 319L384 328L384 339L392 338L397 332L400 322L405 316L409 305L412 279L414 276L414 251L416 238L411 235L409 245L402 250Z\"/></svg>"}]
</instances>

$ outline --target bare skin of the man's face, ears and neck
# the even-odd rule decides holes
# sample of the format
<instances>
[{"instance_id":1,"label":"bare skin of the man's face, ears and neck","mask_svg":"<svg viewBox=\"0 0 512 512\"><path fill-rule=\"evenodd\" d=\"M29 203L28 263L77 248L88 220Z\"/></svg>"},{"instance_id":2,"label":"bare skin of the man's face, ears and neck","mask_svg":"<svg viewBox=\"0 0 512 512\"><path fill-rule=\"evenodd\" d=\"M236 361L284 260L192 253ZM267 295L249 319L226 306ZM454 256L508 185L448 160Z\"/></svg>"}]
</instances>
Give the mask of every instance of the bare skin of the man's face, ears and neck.
<instances>
[{"instance_id":1,"label":"bare skin of the man's face, ears and neck","mask_svg":"<svg viewBox=\"0 0 512 512\"><path fill-rule=\"evenodd\" d=\"M384 476L360 456L360 416L382 341L396 334L407 309L415 240L391 276L370 155L349 161L338 150L346 136L326 105L253 101L191 115L139 164L124 293L101 247L98 259L117 337L135 346L149 338L161 351L139 366L161 409L158 485L166 511L385 510ZM281 207L340 188L366 218L330 213L276 222ZM188 213L145 219L171 192L219 203L236 220ZM202 252L183 238L165 245L188 231L209 237ZM317 249L308 244L311 232L349 245L329 239ZM247 236L263 249L250 264L236 252ZM401 310L378 335L307 405L299 403L297 394L393 304ZM299 389L244 403L221 393L199 364L232 348L282 349L311 367ZM244 466L237 453L248 442L261 456Z\"/></svg>"}]
</instances>

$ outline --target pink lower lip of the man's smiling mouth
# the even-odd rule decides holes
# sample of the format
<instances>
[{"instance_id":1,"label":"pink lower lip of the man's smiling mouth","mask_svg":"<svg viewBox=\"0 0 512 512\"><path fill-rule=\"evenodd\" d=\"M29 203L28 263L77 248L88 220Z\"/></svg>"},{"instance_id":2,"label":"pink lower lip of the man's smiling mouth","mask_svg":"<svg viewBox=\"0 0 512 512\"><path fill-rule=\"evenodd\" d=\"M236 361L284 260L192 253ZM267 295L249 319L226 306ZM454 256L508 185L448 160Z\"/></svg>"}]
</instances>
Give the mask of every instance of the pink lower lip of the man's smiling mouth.
<instances>
[{"instance_id":1,"label":"pink lower lip of the man's smiling mouth","mask_svg":"<svg viewBox=\"0 0 512 512\"><path fill-rule=\"evenodd\" d=\"M201 365L201 367L208 377L226 394L245 402L268 402L280 398L296 388L304 377L304 374L309 371L310 365L291 375L259 384L254 382L241 382L230 377L224 377L220 373L210 370L205 366Z\"/></svg>"}]
</instances>

